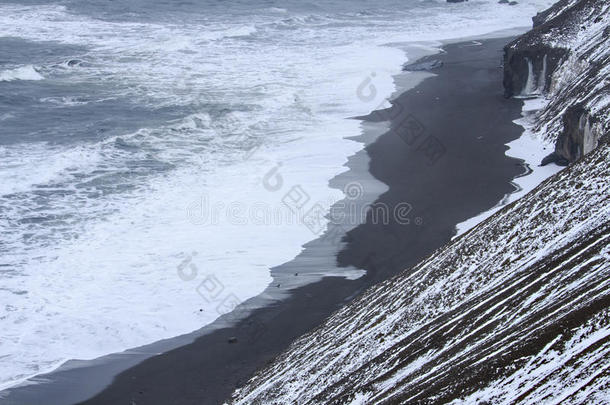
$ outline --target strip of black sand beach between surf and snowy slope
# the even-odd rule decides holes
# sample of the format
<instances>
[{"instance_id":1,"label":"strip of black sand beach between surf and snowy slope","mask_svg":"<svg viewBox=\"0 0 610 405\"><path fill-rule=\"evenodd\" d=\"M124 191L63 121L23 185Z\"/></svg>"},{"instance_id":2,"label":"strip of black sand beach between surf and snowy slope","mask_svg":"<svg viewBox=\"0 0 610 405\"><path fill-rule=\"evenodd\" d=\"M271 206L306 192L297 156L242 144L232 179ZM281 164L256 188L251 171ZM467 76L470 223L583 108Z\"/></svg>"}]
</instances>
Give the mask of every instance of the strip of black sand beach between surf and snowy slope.
<instances>
[{"instance_id":1,"label":"strip of black sand beach between surf and snowy slope","mask_svg":"<svg viewBox=\"0 0 610 405\"><path fill-rule=\"evenodd\" d=\"M348 163L352 170L338 176L332 185L343 188L358 179L354 162L368 153L370 172L389 186L376 204L386 204L390 212L399 204L410 207L408 224L394 217L388 223L369 217L348 232L348 246L338 255L338 262L366 269L364 277L325 278L294 290L283 301L254 310L235 326L204 328L210 332L194 343L122 372L84 403L222 403L292 340L315 328L363 289L447 243L457 223L491 208L513 191L510 182L524 168L520 161L504 155L505 144L522 131L512 123L520 116L521 103L502 96L500 61L502 47L509 40L447 45L443 54L425 58L443 62L432 71L437 76L402 94L391 109L364 118L370 122L390 118L391 130L368 145L366 152L352 157ZM307 273L328 260L324 254L329 243L329 238L322 237L306 245L295 260L273 270L276 280L298 277L297 273ZM22 395L29 404L42 404L47 403L44 395L52 395L52 390L47 394L26 391L16 391L12 400Z\"/></svg>"}]
</instances>

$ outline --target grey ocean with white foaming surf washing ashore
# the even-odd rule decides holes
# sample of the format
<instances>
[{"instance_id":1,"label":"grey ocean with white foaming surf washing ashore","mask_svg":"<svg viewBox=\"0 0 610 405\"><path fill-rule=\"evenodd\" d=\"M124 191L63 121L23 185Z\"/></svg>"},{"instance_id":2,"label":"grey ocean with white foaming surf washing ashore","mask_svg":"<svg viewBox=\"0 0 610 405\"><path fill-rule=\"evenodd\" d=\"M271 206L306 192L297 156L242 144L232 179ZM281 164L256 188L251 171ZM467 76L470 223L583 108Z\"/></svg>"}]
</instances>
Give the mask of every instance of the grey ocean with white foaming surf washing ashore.
<instances>
[{"instance_id":1,"label":"grey ocean with white foaming surf washing ashore","mask_svg":"<svg viewBox=\"0 0 610 405\"><path fill-rule=\"evenodd\" d=\"M551 3L2 0L0 390L259 294L344 197L396 44Z\"/></svg>"}]
</instances>

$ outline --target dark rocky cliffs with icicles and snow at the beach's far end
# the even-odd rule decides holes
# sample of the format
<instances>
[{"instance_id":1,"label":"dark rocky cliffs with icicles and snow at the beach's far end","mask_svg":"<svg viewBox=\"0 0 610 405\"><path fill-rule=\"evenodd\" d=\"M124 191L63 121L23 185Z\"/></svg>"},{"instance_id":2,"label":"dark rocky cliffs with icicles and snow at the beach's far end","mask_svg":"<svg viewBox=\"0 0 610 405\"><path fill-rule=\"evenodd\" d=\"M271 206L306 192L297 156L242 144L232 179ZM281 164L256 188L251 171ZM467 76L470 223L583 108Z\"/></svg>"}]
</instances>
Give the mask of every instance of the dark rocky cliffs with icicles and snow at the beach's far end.
<instances>
[{"instance_id":1,"label":"dark rocky cliffs with icicles and snow at the beach's far end","mask_svg":"<svg viewBox=\"0 0 610 405\"><path fill-rule=\"evenodd\" d=\"M507 97L548 99L534 131L556 142L543 163L569 163L610 131L610 3L562 0L504 49Z\"/></svg>"}]
</instances>

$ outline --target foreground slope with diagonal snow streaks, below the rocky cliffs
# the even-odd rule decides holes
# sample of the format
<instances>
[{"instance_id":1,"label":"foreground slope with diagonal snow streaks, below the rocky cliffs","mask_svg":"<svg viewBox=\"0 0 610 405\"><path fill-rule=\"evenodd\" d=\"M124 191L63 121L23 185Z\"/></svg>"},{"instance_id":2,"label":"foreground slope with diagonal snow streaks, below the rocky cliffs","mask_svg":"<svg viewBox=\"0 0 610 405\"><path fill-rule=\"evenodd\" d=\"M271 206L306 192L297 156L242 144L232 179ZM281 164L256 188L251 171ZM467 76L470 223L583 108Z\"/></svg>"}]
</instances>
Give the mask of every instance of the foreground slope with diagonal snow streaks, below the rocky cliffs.
<instances>
[{"instance_id":1,"label":"foreground slope with diagonal snow streaks, below the rocky cliffs","mask_svg":"<svg viewBox=\"0 0 610 405\"><path fill-rule=\"evenodd\" d=\"M232 403L580 403L606 392L606 142L336 312Z\"/></svg>"}]
</instances>

